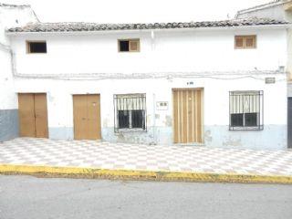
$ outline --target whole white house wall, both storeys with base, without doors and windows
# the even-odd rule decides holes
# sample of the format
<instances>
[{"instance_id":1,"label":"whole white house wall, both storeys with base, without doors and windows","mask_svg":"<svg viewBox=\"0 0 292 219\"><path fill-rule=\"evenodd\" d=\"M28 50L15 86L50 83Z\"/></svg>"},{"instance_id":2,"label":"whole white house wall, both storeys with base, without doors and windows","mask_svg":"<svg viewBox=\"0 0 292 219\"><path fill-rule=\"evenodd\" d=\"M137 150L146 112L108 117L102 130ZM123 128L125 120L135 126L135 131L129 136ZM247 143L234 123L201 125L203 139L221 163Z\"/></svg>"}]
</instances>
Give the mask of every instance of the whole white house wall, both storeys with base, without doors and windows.
<instances>
[{"instance_id":1,"label":"whole white house wall, both storeys with base, without doors and windows","mask_svg":"<svg viewBox=\"0 0 292 219\"><path fill-rule=\"evenodd\" d=\"M235 49L234 36L245 34L257 36L256 49ZM141 38L141 52L119 53L117 40L131 37ZM26 40L34 39L47 40L47 54L26 54ZM11 41L21 76L15 92L47 92L50 138L73 139L73 94L99 93L104 141L171 144L172 89L203 88L205 145L287 147L287 76L277 71L287 62L285 29L154 31L154 38L151 31L30 34ZM76 74L84 78L73 80ZM132 78L137 74L142 78ZM264 130L228 130L231 90L264 90ZM146 93L146 133L113 133L113 95L124 93ZM157 110L156 101L167 101L168 110Z\"/></svg>"}]
</instances>

